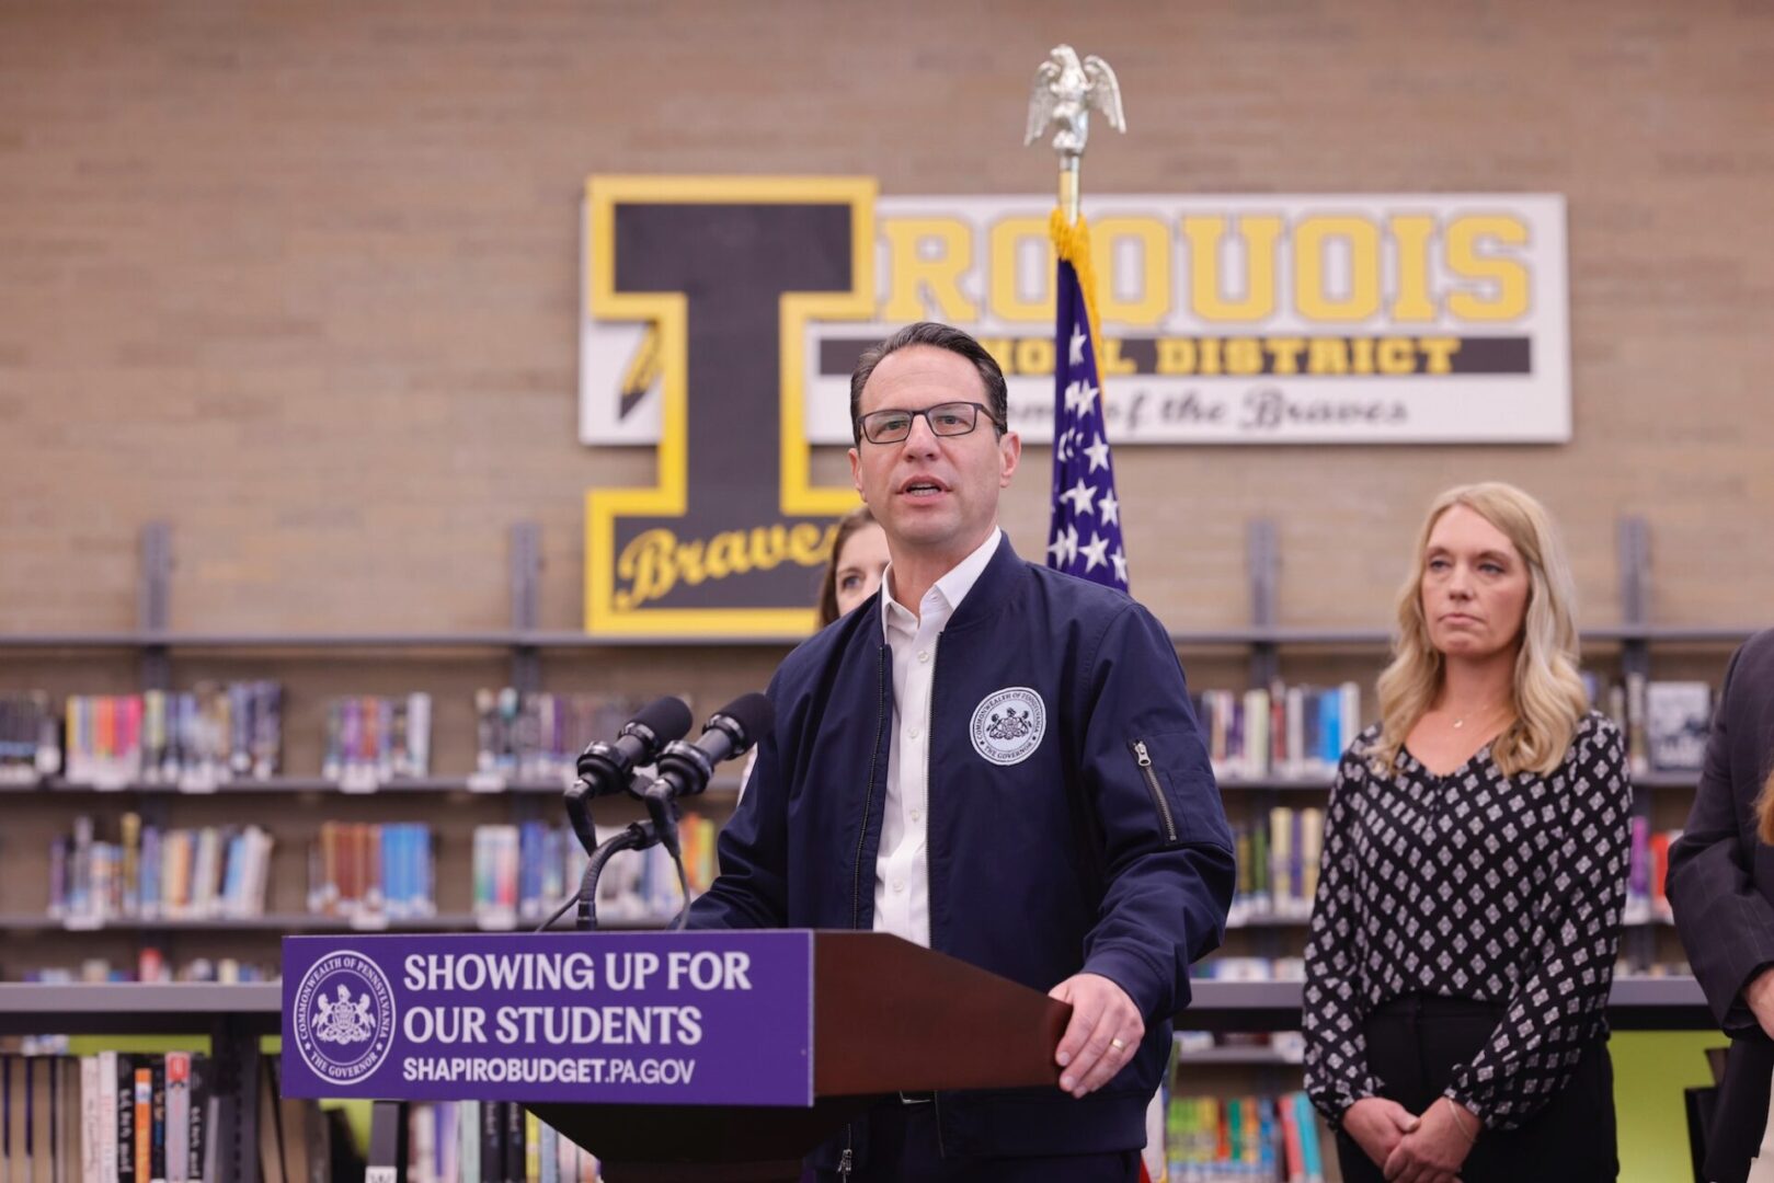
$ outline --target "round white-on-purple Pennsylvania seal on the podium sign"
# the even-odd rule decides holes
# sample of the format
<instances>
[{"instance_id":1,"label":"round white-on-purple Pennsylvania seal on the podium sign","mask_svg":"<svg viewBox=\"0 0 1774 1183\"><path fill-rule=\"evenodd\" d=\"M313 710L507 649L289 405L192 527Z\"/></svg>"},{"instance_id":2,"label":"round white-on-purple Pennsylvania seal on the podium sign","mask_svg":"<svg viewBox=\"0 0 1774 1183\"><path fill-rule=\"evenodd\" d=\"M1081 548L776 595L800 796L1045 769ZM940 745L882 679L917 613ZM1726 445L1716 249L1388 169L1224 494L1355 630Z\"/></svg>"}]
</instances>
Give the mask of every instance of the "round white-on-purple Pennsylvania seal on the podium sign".
<instances>
[{"instance_id":1,"label":"round white-on-purple Pennsylvania seal on the podium sign","mask_svg":"<svg viewBox=\"0 0 1774 1183\"><path fill-rule=\"evenodd\" d=\"M394 990L362 952L330 952L302 975L289 1013L302 1061L332 1084L369 1078L394 1046Z\"/></svg>"}]
</instances>

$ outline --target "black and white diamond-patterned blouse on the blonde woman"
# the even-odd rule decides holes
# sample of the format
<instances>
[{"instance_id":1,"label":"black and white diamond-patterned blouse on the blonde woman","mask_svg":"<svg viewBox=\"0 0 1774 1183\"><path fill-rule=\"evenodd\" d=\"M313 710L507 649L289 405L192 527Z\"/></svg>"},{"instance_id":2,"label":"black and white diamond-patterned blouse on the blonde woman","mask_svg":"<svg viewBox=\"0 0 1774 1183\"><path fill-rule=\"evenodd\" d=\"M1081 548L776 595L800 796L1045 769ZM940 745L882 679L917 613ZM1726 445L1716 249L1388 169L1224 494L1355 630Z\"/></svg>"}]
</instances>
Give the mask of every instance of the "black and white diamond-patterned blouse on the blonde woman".
<instances>
[{"instance_id":1,"label":"black and white diamond-patterned blouse on the blonde woman","mask_svg":"<svg viewBox=\"0 0 1774 1183\"><path fill-rule=\"evenodd\" d=\"M1549 777L1503 775L1490 747L1437 777L1361 733L1338 768L1306 942L1306 1091L1332 1123L1378 1093L1364 1018L1426 993L1506 1006L1448 1096L1487 1126L1533 1117L1604 1007L1627 892L1632 786L1620 729L1591 711Z\"/></svg>"}]
</instances>

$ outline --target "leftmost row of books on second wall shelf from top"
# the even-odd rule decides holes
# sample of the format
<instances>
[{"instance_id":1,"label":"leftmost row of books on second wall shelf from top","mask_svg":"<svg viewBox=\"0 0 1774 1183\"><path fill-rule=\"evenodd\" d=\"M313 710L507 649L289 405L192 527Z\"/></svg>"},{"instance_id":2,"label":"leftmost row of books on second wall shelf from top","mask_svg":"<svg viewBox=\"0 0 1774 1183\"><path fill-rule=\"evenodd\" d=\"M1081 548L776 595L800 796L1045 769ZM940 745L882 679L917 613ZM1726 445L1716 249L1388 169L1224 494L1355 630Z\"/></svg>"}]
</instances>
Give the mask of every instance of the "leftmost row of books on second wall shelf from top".
<instances>
[{"instance_id":1,"label":"leftmost row of books on second wall shelf from top","mask_svg":"<svg viewBox=\"0 0 1774 1183\"><path fill-rule=\"evenodd\" d=\"M126 812L115 841L96 832L83 814L50 844L51 917L75 926L264 915L271 835L255 825L167 830Z\"/></svg>"}]
</instances>

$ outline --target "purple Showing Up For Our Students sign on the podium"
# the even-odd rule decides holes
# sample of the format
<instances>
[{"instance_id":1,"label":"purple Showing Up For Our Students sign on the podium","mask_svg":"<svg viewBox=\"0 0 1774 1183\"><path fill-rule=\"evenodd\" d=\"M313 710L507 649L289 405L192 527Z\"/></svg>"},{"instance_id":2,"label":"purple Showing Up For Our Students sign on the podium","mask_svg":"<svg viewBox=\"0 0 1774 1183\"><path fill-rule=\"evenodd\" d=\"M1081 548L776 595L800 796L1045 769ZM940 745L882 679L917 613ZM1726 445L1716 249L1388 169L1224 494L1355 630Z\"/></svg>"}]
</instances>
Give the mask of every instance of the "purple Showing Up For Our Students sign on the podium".
<instances>
[{"instance_id":1,"label":"purple Showing Up For Our Students sign on the podium","mask_svg":"<svg viewBox=\"0 0 1774 1183\"><path fill-rule=\"evenodd\" d=\"M811 933L286 936L284 1093L812 1105Z\"/></svg>"}]
</instances>

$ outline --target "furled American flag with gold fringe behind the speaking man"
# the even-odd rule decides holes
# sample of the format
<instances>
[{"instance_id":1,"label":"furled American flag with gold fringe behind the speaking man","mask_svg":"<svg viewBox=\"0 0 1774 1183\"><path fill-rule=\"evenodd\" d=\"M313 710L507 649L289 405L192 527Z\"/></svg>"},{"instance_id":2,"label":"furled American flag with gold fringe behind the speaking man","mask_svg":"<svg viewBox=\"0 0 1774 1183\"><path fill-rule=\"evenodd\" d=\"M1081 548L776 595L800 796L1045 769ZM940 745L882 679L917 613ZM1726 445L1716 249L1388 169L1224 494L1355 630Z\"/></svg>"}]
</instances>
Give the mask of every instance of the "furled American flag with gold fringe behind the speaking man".
<instances>
[{"instance_id":1,"label":"furled American flag with gold fringe behind the speaking man","mask_svg":"<svg viewBox=\"0 0 1774 1183\"><path fill-rule=\"evenodd\" d=\"M1054 243L1059 309L1054 330L1054 520L1047 532L1047 566L1126 591L1126 548L1103 424L1102 371L1086 287L1079 282L1080 270L1086 282L1091 275L1084 220L1064 225L1056 213Z\"/></svg>"}]
</instances>

